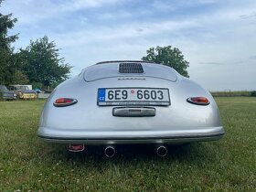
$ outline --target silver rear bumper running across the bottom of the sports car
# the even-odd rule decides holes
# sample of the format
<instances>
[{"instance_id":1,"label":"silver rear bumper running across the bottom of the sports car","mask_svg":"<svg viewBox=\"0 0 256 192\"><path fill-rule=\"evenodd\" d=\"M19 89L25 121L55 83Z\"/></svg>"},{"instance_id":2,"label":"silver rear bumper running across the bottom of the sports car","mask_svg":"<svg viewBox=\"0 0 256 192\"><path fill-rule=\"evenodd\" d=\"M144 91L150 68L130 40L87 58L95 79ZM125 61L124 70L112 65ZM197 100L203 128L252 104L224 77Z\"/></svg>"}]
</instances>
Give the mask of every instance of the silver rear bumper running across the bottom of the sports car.
<instances>
[{"instance_id":1,"label":"silver rear bumper running across the bottom of the sports car","mask_svg":"<svg viewBox=\"0 0 256 192\"><path fill-rule=\"evenodd\" d=\"M49 143L62 144L183 144L219 140L222 126L164 131L81 131L40 127L38 137Z\"/></svg>"}]
</instances>

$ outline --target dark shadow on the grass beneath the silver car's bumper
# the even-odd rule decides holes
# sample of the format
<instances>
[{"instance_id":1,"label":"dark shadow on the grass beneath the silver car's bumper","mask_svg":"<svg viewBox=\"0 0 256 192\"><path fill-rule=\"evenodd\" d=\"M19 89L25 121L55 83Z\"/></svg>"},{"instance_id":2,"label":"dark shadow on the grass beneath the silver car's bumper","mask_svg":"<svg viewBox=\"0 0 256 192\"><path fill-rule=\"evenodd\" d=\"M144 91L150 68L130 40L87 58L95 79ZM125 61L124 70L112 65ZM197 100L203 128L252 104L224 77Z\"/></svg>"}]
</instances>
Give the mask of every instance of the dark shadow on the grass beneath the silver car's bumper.
<instances>
[{"instance_id":1,"label":"dark shadow on the grass beneath the silver car's bumper","mask_svg":"<svg viewBox=\"0 0 256 192\"><path fill-rule=\"evenodd\" d=\"M85 146L85 150L79 153L69 152L68 146L63 144L43 144L41 147L46 148L44 155L48 155L49 159L80 164L102 164L102 162L118 164L133 161L214 161L214 153L218 148L214 142L165 145L167 155L160 157L155 153L154 144L122 144L115 147L115 155L109 158L104 155L105 146Z\"/></svg>"}]
</instances>

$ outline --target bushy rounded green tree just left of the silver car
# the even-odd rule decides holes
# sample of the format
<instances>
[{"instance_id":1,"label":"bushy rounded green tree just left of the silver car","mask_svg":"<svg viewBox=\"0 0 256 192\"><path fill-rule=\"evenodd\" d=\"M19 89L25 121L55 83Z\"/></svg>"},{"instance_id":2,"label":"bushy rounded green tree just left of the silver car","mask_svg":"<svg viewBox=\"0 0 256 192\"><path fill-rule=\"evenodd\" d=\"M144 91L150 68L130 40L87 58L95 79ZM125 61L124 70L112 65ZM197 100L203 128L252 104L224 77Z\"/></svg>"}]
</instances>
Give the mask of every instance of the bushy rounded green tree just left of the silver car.
<instances>
[{"instance_id":1,"label":"bushy rounded green tree just left of the silver car","mask_svg":"<svg viewBox=\"0 0 256 192\"><path fill-rule=\"evenodd\" d=\"M59 59L59 49L47 36L31 40L25 49L20 48L19 60L31 83L50 86L69 77L71 66L65 59Z\"/></svg>"}]
</instances>

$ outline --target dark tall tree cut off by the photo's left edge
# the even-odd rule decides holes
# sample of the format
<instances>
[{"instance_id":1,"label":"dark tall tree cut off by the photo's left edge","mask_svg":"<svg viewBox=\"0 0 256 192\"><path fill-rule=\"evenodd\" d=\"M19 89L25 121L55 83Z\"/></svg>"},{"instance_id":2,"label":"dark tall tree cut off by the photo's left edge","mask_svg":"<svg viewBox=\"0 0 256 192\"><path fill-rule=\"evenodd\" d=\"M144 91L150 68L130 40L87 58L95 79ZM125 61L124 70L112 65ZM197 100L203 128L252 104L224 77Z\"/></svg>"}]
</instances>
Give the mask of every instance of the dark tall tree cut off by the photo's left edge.
<instances>
[{"instance_id":1,"label":"dark tall tree cut off by the photo's left edge","mask_svg":"<svg viewBox=\"0 0 256 192\"><path fill-rule=\"evenodd\" d=\"M0 0L0 6L3 1ZM0 83L12 83L16 71L16 57L13 54L14 48L11 43L15 42L17 35L7 36L8 30L15 26L17 19L12 14L3 15L0 13Z\"/></svg>"}]
</instances>

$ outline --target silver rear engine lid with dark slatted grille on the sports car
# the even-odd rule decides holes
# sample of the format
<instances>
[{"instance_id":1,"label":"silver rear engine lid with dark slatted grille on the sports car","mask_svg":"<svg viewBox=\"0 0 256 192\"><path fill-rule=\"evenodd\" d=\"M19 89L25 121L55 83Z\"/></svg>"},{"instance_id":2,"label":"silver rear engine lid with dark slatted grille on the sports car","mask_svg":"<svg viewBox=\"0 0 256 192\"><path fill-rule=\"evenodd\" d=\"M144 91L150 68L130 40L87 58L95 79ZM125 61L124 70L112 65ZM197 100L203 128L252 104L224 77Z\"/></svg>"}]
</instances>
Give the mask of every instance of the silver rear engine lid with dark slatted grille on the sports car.
<instances>
[{"instance_id":1,"label":"silver rear engine lid with dark slatted grille on the sports car","mask_svg":"<svg viewBox=\"0 0 256 192\"><path fill-rule=\"evenodd\" d=\"M144 62L113 62L93 65L84 71L84 80L93 81L114 77L150 77L176 81L176 71L160 64Z\"/></svg>"}]
</instances>

